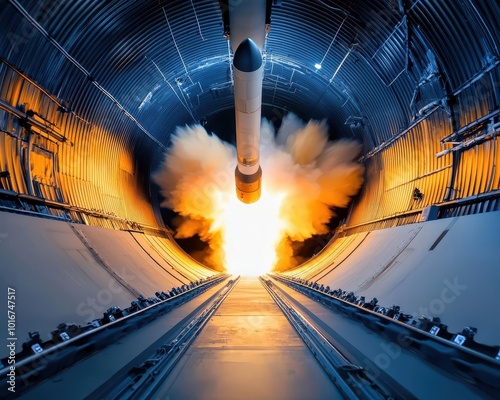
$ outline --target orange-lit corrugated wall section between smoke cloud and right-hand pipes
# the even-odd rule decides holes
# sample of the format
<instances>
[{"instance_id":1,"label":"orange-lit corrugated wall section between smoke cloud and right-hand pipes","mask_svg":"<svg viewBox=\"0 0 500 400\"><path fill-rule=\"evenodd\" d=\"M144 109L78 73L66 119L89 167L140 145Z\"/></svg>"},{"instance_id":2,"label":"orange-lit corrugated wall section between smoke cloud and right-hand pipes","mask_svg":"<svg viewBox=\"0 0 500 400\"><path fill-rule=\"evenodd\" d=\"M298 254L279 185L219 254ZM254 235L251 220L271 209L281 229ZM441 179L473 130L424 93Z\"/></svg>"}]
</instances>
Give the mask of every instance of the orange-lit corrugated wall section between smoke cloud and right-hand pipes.
<instances>
[{"instance_id":1,"label":"orange-lit corrugated wall section between smoke cloud and right-hand pipes","mask_svg":"<svg viewBox=\"0 0 500 400\"><path fill-rule=\"evenodd\" d=\"M384 151L370 157L367 181L349 224L416 211L414 222L422 208L443 201L453 159L452 154L440 158L436 154L442 150L440 138L449 133L449 118L437 110ZM423 194L421 199L414 199L415 188Z\"/></svg>"}]
</instances>

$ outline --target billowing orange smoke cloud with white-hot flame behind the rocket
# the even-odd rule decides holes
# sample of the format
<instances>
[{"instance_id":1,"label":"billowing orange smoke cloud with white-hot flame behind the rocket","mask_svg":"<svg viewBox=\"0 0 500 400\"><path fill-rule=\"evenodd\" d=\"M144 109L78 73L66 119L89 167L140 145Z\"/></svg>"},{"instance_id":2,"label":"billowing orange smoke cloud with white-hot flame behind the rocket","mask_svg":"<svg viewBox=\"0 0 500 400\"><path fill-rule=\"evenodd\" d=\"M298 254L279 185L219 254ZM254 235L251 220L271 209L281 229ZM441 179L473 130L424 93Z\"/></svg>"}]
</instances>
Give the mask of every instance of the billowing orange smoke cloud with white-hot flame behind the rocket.
<instances>
[{"instance_id":1,"label":"billowing orange smoke cloud with white-hot flame behind the rocket","mask_svg":"<svg viewBox=\"0 0 500 400\"><path fill-rule=\"evenodd\" d=\"M346 207L363 182L360 145L328 142L327 132L324 122L288 114L275 137L263 121L262 197L244 204L235 195L234 146L199 125L177 128L155 176L161 205L181 216L176 237L200 235L211 249L203 262L233 274L295 266L290 240L328 232L330 207Z\"/></svg>"}]
</instances>

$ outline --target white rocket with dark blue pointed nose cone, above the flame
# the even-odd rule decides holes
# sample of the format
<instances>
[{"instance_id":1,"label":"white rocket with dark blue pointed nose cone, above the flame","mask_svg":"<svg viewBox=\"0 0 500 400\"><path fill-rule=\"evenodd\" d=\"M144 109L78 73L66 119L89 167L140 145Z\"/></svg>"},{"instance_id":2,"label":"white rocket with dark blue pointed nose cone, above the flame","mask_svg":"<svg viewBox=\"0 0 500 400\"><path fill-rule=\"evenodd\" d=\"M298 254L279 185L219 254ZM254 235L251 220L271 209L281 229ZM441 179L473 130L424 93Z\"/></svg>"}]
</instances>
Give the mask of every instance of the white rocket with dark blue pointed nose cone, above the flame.
<instances>
[{"instance_id":1,"label":"white rocket with dark blue pointed nose cone, above the flame","mask_svg":"<svg viewBox=\"0 0 500 400\"><path fill-rule=\"evenodd\" d=\"M233 58L236 112L236 195L243 203L260 199L262 169L259 164L262 104L262 55L257 44L244 39Z\"/></svg>"}]
</instances>

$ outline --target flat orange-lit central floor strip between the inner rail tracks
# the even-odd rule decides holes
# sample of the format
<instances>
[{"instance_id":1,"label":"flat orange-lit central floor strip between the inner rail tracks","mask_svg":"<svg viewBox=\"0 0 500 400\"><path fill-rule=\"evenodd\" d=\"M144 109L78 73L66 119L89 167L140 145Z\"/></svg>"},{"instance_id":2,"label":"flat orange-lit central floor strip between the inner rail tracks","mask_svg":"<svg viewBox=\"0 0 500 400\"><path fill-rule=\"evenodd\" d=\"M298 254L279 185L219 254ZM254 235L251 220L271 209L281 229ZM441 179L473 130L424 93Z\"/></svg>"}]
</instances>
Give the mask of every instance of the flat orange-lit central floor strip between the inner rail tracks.
<instances>
[{"instance_id":1,"label":"flat orange-lit central floor strip between the inner rail tracks","mask_svg":"<svg viewBox=\"0 0 500 400\"><path fill-rule=\"evenodd\" d=\"M155 398L333 399L340 394L257 278L242 278Z\"/></svg>"}]
</instances>

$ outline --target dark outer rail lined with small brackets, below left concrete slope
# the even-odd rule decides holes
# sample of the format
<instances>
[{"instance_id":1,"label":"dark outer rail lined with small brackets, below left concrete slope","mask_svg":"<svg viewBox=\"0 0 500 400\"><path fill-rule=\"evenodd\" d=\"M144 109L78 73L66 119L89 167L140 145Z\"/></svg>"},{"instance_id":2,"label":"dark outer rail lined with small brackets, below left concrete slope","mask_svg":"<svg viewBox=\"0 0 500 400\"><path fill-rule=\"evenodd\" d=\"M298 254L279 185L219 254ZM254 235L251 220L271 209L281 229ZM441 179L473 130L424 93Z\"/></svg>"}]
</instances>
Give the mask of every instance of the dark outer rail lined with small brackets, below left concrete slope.
<instances>
[{"instance_id":1,"label":"dark outer rail lined with small brackets, below left concrete slope","mask_svg":"<svg viewBox=\"0 0 500 400\"><path fill-rule=\"evenodd\" d=\"M110 307L102 318L84 326L74 323L59 324L57 329L52 331L52 339L48 341L42 341L38 332L30 332L29 340L23 343L23 351L16 354L15 394L25 392L79 360L115 343L119 338L227 278L228 275L217 275L192 282L189 286L172 289L168 294L156 292L156 297L153 298L139 296L130 307L123 310ZM0 374L6 375L9 371L7 357L1 360L0 368Z\"/></svg>"}]
</instances>

